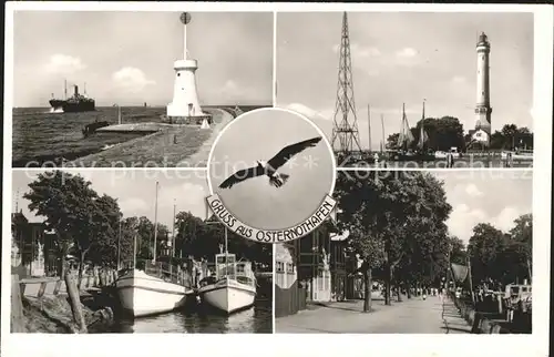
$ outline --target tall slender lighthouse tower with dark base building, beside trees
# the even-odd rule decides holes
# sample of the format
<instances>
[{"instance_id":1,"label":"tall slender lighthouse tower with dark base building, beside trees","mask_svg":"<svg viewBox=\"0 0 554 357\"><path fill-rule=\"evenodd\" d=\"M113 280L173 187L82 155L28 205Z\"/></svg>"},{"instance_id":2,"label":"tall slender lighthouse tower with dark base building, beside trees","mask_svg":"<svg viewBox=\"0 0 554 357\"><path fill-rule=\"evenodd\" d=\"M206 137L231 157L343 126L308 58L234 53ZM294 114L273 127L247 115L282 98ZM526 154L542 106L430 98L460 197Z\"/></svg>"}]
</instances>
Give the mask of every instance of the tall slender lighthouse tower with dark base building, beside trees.
<instances>
[{"instance_id":1,"label":"tall slender lighthouse tower with dark base building, beside trees","mask_svg":"<svg viewBox=\"0 0 554 357\"><path fill-rule=\"evenodd\" d=\"M475 103L475 133L473 140L489 145L491 137L491 94L489 76L489 54L491 44L486 34L479 35L478 44L478 85Z\"/></svg>"}]
</instances>

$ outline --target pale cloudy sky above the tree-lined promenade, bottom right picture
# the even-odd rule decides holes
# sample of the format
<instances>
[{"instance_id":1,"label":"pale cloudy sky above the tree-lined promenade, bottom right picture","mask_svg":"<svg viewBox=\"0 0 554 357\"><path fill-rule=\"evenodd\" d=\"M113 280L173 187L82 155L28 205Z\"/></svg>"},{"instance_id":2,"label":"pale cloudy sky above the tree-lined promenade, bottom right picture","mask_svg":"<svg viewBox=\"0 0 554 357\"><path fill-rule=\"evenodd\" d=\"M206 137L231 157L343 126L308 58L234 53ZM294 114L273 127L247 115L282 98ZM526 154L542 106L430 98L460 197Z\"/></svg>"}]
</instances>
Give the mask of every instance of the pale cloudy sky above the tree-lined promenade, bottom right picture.
<instances>
[{"instance_id":1,"label":"pale cloudy sky above the tree-lined promenade, bottom right picture","mask_svg":"<svg viewBox=\"0 0 554 357\"><path fill-rule=\"evenodd\" d=\"M507 232L514 220L532 213L533 176L531 171L435 172L444 182L452 205L449 231L465 243L478 223L490 223Z\"/></svg>"}]
</instances>

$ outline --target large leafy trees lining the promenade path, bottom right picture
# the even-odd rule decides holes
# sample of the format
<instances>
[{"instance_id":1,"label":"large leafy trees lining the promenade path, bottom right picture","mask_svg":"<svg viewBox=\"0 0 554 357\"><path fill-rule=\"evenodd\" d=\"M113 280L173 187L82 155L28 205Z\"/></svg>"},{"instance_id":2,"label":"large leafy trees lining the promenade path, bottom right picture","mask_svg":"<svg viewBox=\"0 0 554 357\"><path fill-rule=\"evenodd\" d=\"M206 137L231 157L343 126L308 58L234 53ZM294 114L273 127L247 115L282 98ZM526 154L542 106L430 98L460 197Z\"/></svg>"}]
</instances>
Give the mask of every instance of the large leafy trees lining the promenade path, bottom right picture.
<instances>
[{"instance_id":1,"label":"large leafy trees lining the promenade path, bottom right picture","mask_svg":"<svg viewBox=\"0 0 554 357\"><path fill-rule=\"evenodd\" d=\"M362 178L339 172L336 196L338 230L349 232L349 247L362 259L365 312L371 309L373 278L384 282L389 305L392 285L399 298L401 289L410 297L414 285L439 286L450 263L466 264L465 247L448 232L452 207L443 183L432 174L375 171ZM474 277L523 278L522 268L531 264L530 224L530 216L522 216L510 234L478 225L469 246Z\"/></svg>"}]
</instances>

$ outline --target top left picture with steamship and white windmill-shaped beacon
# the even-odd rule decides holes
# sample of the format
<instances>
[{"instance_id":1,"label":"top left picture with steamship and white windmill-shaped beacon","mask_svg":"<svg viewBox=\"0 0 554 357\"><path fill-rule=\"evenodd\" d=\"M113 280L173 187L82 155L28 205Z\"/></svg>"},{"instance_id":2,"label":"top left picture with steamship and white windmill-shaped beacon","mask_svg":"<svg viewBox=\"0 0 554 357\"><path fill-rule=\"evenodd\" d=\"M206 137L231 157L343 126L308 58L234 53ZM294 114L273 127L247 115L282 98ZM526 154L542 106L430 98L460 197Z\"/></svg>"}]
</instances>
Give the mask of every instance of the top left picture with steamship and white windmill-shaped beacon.
<instances>
[{"instance_id":1,"label":"top left picture with steamship and white windmill-shaped beacon","mask_svg":"<svg viewBox=\"0 0 554 357\"><path fill-rule=\"evenodd\" d=\"M184 10L14 11L12 167L206 167L273 106L274 14Z\"/></svg>"}]
</instances>

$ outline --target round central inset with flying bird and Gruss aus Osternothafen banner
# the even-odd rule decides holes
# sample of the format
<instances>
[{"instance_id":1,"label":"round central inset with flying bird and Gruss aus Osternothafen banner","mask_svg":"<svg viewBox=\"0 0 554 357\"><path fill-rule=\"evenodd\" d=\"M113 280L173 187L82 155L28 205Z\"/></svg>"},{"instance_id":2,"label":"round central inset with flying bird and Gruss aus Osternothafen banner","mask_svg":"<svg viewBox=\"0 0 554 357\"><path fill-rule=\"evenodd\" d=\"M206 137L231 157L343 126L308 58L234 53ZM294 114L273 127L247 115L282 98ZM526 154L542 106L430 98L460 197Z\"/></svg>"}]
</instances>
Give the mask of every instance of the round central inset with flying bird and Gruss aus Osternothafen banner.
<instances>
[{"instance_id":1,"label":"round central inset with flying bird and Gruss aus Osternothafen banner","mask_svg":"<svg viewBox=\"0 0 554 357\"><path fill-rule=\"evenodd\" d=\"M246 231L296 230L288 235L291 239L312 231L310 222L319 225L335 205L331 145L311 121L289 110L258 109L237 116L216 139L207 169L208 204L227 226L238 222ZM301 234L297 227L304 223L308 226ZM263 239L266 232L244 234L240 224L235 232L247 238L287 241L275 237L287 232Z\"/></svg>"}]
</instances>

